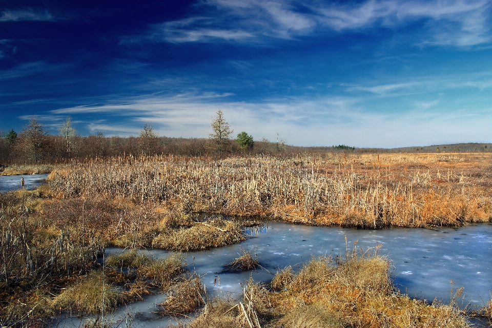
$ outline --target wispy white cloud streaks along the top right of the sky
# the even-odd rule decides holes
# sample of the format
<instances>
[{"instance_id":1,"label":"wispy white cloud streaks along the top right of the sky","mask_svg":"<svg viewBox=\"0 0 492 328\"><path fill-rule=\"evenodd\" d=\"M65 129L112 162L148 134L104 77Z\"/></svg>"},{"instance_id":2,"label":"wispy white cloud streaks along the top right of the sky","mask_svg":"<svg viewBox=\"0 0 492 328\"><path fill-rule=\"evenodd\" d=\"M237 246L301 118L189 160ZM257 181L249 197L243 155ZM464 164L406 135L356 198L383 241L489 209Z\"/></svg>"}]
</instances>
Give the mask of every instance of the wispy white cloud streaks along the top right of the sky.
<instances>
[{"instance_id":1,"label":"wispy white cloud streaks along the top right of the sky","mask_svg":"<svg viewBox=\"0 0 492 328\"><path fill-rule=\"evenodd\" d=\"M203 13L151 27L146 39L184 42L253 42L264 38L357 31L377 26L397 28L422 21L417 44L475 46L492 40L488 0L368 0L361 4L300 4L279 0L210 0L199 3ZM135 39L135 38L133 38Z\"/></svg>"}]
</instances>

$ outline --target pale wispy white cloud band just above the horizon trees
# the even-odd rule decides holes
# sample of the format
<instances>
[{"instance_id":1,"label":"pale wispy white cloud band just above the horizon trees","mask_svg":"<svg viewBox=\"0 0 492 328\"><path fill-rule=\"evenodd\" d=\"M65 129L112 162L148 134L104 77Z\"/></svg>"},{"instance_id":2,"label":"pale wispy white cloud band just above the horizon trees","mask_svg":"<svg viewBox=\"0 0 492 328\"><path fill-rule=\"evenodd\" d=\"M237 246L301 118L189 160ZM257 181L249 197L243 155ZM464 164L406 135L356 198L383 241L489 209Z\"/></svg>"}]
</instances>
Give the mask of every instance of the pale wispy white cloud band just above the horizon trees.
<instances>
[{"instance_id":1,"label":"pale wispy white cloud band just above the horizon trees","mask_svg":"<svg viewBox=\"0 0 492 328\"><path fill-rule=\"evenodd\" d=\"M180 94L63 108L49 115L71 115L74 119L96 116L98 121L84 125L89 131L107 135L135 135L144 122L152 122L160 135L206 137L212 116L221 108L235 133L247 131L257 140L273 140L279 133L289 144L304 146L399 147L490 139L491 108L447 106L441 99L419 100L404 111L376 111L367 105L366 97L360 96L293 97L253 103L230 101L223 94Z\"/></svg>"}]
</instances>

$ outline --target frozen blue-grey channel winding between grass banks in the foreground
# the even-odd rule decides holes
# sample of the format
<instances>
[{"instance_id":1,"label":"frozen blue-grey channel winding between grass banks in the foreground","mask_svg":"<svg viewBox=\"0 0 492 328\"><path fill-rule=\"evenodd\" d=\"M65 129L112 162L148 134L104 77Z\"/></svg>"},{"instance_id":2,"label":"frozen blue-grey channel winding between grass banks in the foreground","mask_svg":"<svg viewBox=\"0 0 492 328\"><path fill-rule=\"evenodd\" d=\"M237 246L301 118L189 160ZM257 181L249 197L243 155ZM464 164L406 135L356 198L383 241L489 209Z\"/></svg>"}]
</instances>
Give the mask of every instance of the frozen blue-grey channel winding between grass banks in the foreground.
<instances>
[{"instance_id":1,"label":"frozen blue-grey channel winding between grass banks in the foreground","mask_svg":"<svg viewBox=\"0 0 492 328\"><path fill-rule=\"evenodd\" d=\"M477 224L463 228L354 230L338 227L297 226L289 223L268 222L252 238L235 245L201 252L188 253L190 270L202 276L210 296L242 293L242 283L253 277L269 282L275 272L287 265L300 268L312 256L344 254L345 236L349 249L358 240L363 250L382 244L381 254L388 255L394 266L395 285L411 297L434 298L449 302L451 289L464 287L462 305L480 308L490 300L492 292L492 225ZM223 266L234 260L241 247L254 249L265 269L240 273L222 273ZM107 249L107 254L120 253ZM156 258L167 256L160 250L145 251ZM195 257L193 259L193 257ZM453 279L454 284L450 283ZM151 295L144 302L129 304L113 313L118 318L131 312L132 326L158 327L167 318L158 318L155 303L165 295ZM483 299L483 301L482 301ZM461 301L461 298L460 298ZM66 319L59 326L78 326L79 319Z\"/></svg>"}]
</instances>

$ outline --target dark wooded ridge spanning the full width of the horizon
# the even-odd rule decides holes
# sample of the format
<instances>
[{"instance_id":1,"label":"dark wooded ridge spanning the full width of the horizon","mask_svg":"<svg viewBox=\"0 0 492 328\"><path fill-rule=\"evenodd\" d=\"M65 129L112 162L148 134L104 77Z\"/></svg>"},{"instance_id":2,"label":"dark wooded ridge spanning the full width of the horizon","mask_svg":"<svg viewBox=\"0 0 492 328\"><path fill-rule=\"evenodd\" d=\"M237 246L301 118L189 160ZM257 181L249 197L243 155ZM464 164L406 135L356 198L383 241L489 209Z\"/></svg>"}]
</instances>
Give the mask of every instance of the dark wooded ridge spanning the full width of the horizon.
<instances>
[{"instance_id":1,"label":"dark wooded ridge spanning the full width of the horizon","mask_svg":"<svg viewBox=\"0 0 492 328\"><path fill-rule=\"evenodd\" d=\"M72 129L72 128L68 128ZM68 131L68 132L67 132ZM254 141L247 147L237 140L212 138L173 138L157 136L149 125L144 126L140 136L107 137L103 133L80 136L74 130L63 130L50 134L35 119L18 134L1 132L0 164L10 163L56 163L72 158L94 158L119 155L165 154L180 156L230 156L230 155L292 155L300 153L448 153L490 152L492 144L454 144L404 148L355 148L345 145L332 147L289 146L285 141L271 142L265 138ZM244 132L242 132L244 134ZM247 135L247 134L246 134ZM248 135L247 135L248 136Z\"/></svg>"}]
</instances>

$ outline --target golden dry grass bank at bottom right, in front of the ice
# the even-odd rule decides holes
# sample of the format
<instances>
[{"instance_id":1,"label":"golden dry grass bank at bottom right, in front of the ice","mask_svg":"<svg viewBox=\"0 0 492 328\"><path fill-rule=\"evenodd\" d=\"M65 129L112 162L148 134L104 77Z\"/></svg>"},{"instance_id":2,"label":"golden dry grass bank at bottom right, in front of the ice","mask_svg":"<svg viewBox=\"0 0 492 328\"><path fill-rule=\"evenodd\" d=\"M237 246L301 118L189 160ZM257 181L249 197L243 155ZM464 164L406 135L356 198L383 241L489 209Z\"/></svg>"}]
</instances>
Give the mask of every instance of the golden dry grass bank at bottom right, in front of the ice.
<instances>
[{"instance_id":1,"label":"golden dry grass bank at bottom right, in front of the ice","mask_svg":"<svg viewBox=\"0 0 492 328\"><path fill-rule=\"evenodd\" d=\"M244 304L214 300L184 326L471 326L466 313L453 303L456 298L445 305L400 294L394 289L389 268L388 260L377 252L363 253L355 247L344 257L313 258L297 273L291 268L279 271L270 285L262 286L250 280L244 289Z\"/></svg>"}]
</instances>

